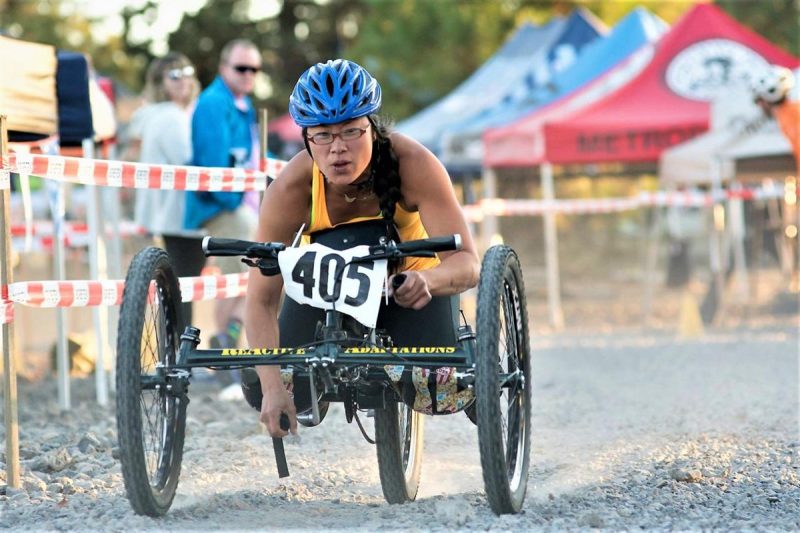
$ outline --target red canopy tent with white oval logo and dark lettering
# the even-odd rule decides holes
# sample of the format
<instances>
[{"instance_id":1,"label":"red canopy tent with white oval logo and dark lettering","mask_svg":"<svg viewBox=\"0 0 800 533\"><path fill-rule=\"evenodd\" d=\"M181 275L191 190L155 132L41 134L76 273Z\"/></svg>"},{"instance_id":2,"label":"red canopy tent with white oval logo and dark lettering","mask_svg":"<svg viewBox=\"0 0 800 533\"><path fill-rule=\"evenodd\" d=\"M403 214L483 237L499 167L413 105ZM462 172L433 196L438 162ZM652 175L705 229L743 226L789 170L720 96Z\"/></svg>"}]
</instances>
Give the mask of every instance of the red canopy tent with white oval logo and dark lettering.
<instances>
[{"instance_id":1,"label":"red canopy tent with white oval logo and dark lettering","mask_svg":"<svg viewBox=\"0 0 800 533\"><path fill-rule=\"evenodd\" d=\"M664 149L708 129L712 99L749 83L768 63L795 67L798 60L716 5L696 5L662 37L650 64L616 92L568 116L543 121L534 113L487 137L485 153L490 154L492 143L526 129L539 131L544 136L539 160L517 154L487 156L487 163L657 161Z\"/></svg>"}]
</instances>

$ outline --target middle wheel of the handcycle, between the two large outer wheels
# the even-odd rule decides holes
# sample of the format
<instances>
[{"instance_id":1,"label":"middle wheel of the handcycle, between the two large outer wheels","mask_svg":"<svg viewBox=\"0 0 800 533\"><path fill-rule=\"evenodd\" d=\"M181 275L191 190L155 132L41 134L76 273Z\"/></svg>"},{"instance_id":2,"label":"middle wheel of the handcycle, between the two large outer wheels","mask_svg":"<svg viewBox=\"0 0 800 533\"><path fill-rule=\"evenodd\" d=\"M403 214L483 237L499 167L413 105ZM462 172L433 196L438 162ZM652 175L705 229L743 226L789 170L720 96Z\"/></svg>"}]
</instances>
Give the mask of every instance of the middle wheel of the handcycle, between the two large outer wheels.
<instances>
[{"instance_id":1,"label":"middle wheel of the handcycle, between the two large outer wheels","mask_svg":"<svg viewBox=\"0 0 800 533\"><path fill-rule=\"evenodd\" d=\"M404 403L375 410L375 448L383 496L389 503L414 501L422 469L425 419Z\"/></svg>"}]
</instances>

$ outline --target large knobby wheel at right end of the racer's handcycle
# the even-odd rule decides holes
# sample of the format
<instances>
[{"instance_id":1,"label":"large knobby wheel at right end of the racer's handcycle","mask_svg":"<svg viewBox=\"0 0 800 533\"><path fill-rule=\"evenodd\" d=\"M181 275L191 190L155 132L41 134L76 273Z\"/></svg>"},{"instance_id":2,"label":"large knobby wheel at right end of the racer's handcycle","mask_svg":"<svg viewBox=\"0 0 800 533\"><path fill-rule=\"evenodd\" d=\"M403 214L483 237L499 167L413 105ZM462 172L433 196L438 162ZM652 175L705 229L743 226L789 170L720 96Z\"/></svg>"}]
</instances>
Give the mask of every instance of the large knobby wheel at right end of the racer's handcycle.
<instances>
[{"instance_id":1,"label":"large knobby wheel at right end of the racer's handcycle","mask_svg":"<svg viewBox=\"0 0 800 533\"><path fill-rule=\"evenodd\" d=\"M475 396L483 481L496 514L518 513L528 482L533 381L525 287L511 248L486 252L477 307Z\"/></svg>"}]
</instances>

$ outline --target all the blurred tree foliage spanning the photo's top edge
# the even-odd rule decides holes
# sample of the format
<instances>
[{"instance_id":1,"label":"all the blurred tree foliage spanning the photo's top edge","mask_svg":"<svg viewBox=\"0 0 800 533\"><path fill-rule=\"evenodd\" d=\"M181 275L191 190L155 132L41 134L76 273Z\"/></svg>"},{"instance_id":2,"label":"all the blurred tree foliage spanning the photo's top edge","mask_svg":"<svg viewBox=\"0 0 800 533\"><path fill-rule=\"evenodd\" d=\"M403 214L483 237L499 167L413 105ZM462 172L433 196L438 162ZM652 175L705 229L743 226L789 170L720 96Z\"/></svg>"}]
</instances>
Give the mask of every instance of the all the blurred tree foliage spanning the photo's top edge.
<instances>
[{"instance_id":1,"label":"all the blurred tree foliage spanning the photo's top edge","mask_svg":"<svg viewBox=\"0 0 800 533\"><path fill-rule=\"evenodd\" d=\"M0 31L87 53L96 69L140 89L155 48L133 37L169 0L133 2L123 31L96 42L85 4L70 0L0 0ZM791 53L800 54L797 0L716 0L723 9ZM696 0L207 0L183 16L168 46L188 55L207 85L219 53L234 38L262 50L271 93L259 105L286 111L297 77L333 57L362 63L380 79L385 110L402 119L441 98L475 71L524 22L542 24L576 7L611 26L639 5L674 24ZM253 17L252 8L273 11ZM257 11L257 10L256 10ZM274 115L273 115L274 116Z\"/></svg>"}]
</instances>

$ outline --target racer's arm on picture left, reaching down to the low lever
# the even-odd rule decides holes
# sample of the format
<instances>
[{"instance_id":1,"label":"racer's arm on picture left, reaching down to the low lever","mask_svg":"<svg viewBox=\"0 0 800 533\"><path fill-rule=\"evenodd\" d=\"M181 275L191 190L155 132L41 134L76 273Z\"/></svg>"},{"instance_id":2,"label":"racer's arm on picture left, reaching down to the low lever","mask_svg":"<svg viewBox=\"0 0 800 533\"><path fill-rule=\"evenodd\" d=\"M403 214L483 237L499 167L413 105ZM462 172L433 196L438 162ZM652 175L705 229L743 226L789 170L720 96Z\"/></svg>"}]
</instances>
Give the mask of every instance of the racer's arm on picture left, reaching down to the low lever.
<instances>
[{"instance_id":1,"label":"racer's arm on picture left, reaching down to the low lever","mask_svg":"<svg viewBox=\"0 0 800 533\"><path fill-rule=\"evenodd\" d=\"M307 154L296 155L268 188L261 203L256 240L291 244L294 234L307 223L311 191L311 159ZM247 284L244 327L247 342L259 348L277 348L278 306L283 279L281 276L261 276L255 271ZM261 421L270 435L282 437L280 415L289 416L293 433L297 432L294 402L283 386L278 366L257 366L264 399Z\"/></svg>"}]
</instances>

